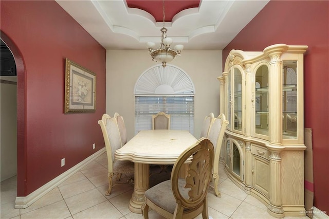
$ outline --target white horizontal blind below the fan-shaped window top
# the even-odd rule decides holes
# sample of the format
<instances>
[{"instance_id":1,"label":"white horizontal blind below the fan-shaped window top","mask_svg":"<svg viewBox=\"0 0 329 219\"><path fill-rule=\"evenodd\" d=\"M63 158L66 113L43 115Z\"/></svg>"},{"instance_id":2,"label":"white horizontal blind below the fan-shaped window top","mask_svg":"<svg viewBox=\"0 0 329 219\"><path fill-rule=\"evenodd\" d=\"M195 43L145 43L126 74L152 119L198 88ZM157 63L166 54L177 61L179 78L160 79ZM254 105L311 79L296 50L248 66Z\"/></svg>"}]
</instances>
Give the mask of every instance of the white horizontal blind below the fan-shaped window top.
<instances>
[{"instance_id":1,"label":"white horizontal blind below the fan-shaped window top","mask_svg":"<svg viewBox=\"0 0 329 219\"><path fill-rule=\"evenodd\" d=\"M135 134L152 129L152 115L170 114L170 129L194 135L194 96L135 96Z\"/></svg>"}]
</instances>

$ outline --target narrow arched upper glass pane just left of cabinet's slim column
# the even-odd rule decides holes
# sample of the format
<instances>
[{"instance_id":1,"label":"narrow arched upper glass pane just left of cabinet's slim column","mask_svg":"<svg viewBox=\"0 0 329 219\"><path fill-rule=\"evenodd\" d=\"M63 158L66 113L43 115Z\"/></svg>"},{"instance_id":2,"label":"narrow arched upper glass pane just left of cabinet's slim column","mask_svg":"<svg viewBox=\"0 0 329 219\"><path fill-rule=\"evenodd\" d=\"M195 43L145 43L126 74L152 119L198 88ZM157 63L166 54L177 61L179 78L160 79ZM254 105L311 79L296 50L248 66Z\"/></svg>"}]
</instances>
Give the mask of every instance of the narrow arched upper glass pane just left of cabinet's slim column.
<instances>
[{"instance_id":1,"label":"narrow arched upper glass pane just left of cabinet's slim column","mask_svg":"<svg viewBox=\"0 0 329 219\"><path fill-rule=\"evenodd\" d=\"M234 115L233 124L234 130L242 130L242 74L239 68L234 70Z\"/></svg>"}]
</instances>

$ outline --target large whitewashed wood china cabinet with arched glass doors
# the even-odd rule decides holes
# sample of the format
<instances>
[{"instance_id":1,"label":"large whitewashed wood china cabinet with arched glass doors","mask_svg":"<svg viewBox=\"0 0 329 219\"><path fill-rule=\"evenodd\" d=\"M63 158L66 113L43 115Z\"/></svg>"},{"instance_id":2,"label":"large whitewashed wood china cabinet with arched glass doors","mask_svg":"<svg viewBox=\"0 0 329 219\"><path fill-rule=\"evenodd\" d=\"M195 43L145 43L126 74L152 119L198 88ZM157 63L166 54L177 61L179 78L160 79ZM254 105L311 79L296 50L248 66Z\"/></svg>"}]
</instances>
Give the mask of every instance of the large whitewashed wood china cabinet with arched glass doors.
<instances>
[{"instance_id":1,"label":"large whitewashed wood china cabinet with arched glass doors","mask_svg":"<svg viewBox=\"0 0 329 219\"><path fill-rule=\"evenodd\" d=\"M229 125L222 161L233 182L268 213L303 216L303 58L307 46L231 50L220 81ZM302 212L302 213L301 213Z\"/></svg>"}]
</instances>

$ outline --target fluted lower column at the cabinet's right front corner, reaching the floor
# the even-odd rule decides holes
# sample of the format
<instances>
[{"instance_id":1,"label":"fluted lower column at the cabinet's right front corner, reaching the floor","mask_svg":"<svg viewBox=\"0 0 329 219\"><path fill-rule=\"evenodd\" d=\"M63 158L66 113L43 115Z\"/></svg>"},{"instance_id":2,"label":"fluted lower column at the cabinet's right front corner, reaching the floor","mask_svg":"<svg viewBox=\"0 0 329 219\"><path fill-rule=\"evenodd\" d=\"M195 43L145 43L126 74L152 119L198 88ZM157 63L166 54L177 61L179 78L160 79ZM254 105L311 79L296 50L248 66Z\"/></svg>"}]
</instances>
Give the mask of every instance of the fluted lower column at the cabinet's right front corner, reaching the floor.
<instances>
[{"instance_id":1,"label":"fluted lower column at the cabinet's right front corner, reaching the floor","mask_svg":"<svg viewBox=\"0 0 329 219\"><path fill-rule=\"evenodd\" d=\"M283 217L281 194L281 156L279 151L271 151L269 155L269 213L276 217Z\"/></svg>"}]
</instances>

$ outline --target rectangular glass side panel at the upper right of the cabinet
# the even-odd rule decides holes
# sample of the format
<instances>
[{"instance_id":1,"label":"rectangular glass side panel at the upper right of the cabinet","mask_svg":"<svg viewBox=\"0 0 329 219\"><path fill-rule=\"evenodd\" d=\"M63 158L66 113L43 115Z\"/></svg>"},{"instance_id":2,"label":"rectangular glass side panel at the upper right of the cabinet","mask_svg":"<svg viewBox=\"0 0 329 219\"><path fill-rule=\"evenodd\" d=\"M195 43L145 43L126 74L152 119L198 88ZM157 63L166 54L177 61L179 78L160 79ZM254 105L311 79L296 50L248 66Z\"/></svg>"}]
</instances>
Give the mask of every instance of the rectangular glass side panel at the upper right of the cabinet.
<instances>
[{"instance_id":1,"label":"rectangular glass side panel at the upper right of the cabinet","mask_svg":"<svg viewBox=\"0 0 329 219\"><path fill-rule=\"evenodd\" d=\"M283 138L297 138L297 61L283 61Z\"/></svg>"}]
</instances>

